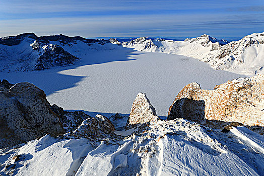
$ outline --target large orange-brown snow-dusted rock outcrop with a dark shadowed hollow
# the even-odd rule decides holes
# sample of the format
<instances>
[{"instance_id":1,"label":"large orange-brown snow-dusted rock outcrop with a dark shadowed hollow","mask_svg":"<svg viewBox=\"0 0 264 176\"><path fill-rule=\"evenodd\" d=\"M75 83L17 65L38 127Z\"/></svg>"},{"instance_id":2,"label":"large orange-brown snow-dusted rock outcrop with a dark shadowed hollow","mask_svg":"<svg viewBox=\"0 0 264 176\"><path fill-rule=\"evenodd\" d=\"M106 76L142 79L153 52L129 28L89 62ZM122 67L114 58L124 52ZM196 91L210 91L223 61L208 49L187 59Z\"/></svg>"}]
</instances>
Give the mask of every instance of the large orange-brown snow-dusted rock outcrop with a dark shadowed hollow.
<instances>
[{"instance_id":1,"label":"large orange-brown snow-dusted rock outcrop with a dark shadowed hollow","mask_svg":"<svg viewBox=\"0 0 264 176\"><path fill-rule=\"evenodd\" d=\"M190 83L181 90L169 109L168 120L175 118L201 124L239 122L263 127L264 75L227 81L216 85L212 91L202 90L195 82Z\"/></svg>"}]
</instances>

